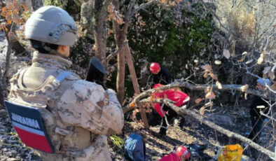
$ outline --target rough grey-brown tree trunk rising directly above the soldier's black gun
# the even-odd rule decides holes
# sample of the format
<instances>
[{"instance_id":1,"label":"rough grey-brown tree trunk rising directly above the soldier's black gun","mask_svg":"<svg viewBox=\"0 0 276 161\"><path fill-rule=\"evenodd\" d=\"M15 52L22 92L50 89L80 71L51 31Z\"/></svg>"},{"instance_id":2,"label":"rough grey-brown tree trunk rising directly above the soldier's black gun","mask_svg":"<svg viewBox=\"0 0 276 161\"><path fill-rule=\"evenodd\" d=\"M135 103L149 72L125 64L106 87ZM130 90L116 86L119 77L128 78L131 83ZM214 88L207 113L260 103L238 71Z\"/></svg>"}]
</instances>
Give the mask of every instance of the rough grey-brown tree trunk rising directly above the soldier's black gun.
<instances>
[{"instance_id":1,"label":"rough grey-brown tree trunk rising directly above the soldier's black gun","mask_svg":"<svg viewBox=\"0 0 276 161\"><path fill-rule=\"evenodd\" d=\"M106 67L106 17L108 15L107 5L103 3L107 1L95 0L94 22L95 22L95 45L96 45L96 57L99 62Z\"/></svg>"}]
</instances>

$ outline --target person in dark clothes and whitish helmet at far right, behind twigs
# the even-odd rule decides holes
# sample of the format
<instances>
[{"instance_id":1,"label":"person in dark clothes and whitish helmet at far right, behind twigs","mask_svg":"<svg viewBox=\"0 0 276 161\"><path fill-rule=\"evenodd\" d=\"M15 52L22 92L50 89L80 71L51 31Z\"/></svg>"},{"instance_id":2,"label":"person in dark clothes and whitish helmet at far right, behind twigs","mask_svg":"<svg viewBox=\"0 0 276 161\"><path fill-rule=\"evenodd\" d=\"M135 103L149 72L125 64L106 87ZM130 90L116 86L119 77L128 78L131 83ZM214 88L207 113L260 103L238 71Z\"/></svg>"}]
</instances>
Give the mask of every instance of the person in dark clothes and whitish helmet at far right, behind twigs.
<instances>
[{"instance_id":1,"label":"person in dark clothes and whitish helmet at far right, behind twigs","mask_svg":"<svg viewBox=\"0 0 276 161\"><path fill-rule=\"evenodd\" d=\"M265 83L270 85L269 79L258 79L256 88L258 90L265 90ZM265 102L266 101L266 102ZM263 113L268 113L270 105L267 99L261 99L261 97L254 97L253 102L250 105L250 116L252 130L248 136L249 139L253 139L254 142L258 143L261 137L261 130L263 129L263 122L265 121L265 116L261 115Z\"/></svg>"}]
</instances>

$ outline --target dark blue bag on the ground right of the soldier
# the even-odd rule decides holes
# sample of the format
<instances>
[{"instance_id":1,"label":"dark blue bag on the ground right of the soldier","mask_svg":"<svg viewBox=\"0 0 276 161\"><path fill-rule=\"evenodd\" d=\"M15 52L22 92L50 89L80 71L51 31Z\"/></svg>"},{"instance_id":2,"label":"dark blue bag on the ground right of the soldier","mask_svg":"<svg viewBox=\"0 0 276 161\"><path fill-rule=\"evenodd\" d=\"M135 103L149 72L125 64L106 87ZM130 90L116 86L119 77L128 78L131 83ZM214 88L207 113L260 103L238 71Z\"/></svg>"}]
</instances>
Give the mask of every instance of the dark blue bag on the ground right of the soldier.
<instances>
[{"instance_id":1,"label":"dark blue bag on the ground right of the soldier","mask_svg":"<svg viewBox=\"0 0 276 161\"><path fill-rule=\"evenodd\" d=\"M146 155L146 146L144 140L139 134L130 134L125 141L125 158L132 161L144 161Z\"/></svg>"}]
</instances>

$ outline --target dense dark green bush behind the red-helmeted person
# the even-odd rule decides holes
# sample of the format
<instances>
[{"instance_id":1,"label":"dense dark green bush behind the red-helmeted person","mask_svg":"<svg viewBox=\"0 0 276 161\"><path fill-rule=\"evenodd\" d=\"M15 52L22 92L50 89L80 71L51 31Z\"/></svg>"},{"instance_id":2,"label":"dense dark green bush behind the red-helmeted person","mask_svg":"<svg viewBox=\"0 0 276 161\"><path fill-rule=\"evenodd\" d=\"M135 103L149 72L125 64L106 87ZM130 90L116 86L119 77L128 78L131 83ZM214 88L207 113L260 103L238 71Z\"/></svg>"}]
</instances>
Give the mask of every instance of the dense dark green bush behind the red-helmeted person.
<instances>
[{"instance_id":1,"label":"dense dark green bush behind the red-helmeted person","mask_svg":"<svg viewBox=\"0 0 276 161\"><path fill-rule=\"evenodd\" d=\"M183 21L176 18L173 10L160 6L136 15L128 35L130 47L137 52L135 59L146 57L150 62L177 62L170 70L178 73L191 59L208 57L205 53L216 27L211 15L198 15L204 10L201 5L191 7L193 13L186 9L180 12Z\"/></svg>"}]
</instances>

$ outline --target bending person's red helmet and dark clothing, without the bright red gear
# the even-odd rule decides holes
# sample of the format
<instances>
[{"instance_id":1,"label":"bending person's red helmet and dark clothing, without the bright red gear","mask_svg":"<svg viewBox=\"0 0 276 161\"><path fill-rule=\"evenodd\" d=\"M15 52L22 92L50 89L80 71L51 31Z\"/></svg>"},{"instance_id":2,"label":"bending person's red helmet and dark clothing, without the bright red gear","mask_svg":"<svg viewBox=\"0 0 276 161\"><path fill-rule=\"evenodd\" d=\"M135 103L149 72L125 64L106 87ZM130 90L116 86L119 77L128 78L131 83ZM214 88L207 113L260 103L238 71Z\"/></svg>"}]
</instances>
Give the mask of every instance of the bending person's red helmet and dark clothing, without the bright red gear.
<instances>
[{"instance_id":1,"label":"bending person's red helmet and dark clothing, without the bright red gear","mask_svg":"<svg viewBox=\"0 0 276 161\"><path fill-rule=\"evenodd\" d=\"M152 82L151 87L153 87L156 84L161 85L167 85L172 83L173 77L172 74L165 69L164 67L160 67L160 64L157 62L151 63L150 71L152 73ZM173 118L177 117L177 113L170 109L170 107L163 105L163 111L165 111L165 116L167 118L167 121L170 122L173 120ZM149 125L156 126L160 125L160 121L162 120L162 124L160 127L159 134L166 135L167 132L167 123L165 120L165 117L161 117L160 113L156 112L156 110L153 111L152 116L149 119ZM179 127L182 127L184 125L184 118L180 118Z\"/></svg>"}]
</instances>

